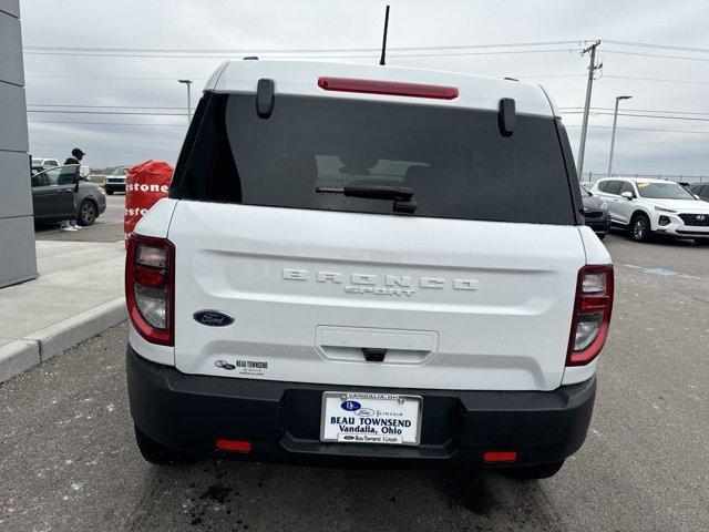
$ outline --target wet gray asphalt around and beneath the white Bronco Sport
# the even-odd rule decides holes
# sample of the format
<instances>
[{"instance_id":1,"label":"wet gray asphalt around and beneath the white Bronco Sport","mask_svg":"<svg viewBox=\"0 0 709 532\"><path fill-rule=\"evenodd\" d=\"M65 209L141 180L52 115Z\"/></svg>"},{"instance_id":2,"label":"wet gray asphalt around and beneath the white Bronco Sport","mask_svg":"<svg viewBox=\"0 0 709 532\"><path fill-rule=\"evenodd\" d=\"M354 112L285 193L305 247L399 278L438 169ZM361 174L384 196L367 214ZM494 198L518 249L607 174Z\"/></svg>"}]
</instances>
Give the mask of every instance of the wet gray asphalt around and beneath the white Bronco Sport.
<instances>
[{"instance_id":1,"label":"wet gray asphalt around and beneath the white Bronco Sport","mask_svg":"<svg viewBox=\"0 0 709 532\"><path fill-rule=\"evenodd\" d=\"M707 531L709 247L606 244L616 306L594 419L553 479L150 466L121 325L0 385L0 530Z\"/></svg>"}]
</instances>

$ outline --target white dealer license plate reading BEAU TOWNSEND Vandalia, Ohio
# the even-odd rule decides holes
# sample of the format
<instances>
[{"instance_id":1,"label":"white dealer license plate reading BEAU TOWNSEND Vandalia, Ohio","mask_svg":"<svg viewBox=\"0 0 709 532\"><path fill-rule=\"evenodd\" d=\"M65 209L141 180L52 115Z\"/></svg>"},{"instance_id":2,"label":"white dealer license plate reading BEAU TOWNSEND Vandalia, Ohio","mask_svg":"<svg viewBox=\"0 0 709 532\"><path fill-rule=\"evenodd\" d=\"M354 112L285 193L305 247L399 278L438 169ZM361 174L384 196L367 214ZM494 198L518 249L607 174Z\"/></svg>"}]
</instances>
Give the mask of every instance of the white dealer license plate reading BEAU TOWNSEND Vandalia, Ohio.
<instances>
[{"instance_id":1,"label":"white dealer license plate reading BEAU TOWNSEND Vandalia, Ohio","mask_svg":"<svg viewBox=\"0 0 709 532\"><path fill-rule=\"evenodd\" d=\"M322 393L320 440L418 446L423 399L389 393Z\"/></svg>"}]
</instances>

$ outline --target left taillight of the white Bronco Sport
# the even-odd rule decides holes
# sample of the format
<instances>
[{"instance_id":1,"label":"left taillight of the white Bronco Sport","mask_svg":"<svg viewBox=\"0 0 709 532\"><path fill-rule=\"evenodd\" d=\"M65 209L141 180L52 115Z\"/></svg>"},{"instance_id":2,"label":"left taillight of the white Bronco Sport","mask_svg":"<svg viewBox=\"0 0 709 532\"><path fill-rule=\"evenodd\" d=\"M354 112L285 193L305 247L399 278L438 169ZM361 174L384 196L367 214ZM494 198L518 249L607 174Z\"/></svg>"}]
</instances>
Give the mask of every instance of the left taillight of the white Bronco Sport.
<instances>
[{"instance_id":1,"label":"left taillight of the white Bronco Sport","mask_svg":"<svg viewBox=\"0 0 709 532\"><path fill-rule=\"evenodd\" d=\"M125 256L125 301L143 338L174 345L175 246L166 238L132 234Z\"/></svg>"}]
</instances>

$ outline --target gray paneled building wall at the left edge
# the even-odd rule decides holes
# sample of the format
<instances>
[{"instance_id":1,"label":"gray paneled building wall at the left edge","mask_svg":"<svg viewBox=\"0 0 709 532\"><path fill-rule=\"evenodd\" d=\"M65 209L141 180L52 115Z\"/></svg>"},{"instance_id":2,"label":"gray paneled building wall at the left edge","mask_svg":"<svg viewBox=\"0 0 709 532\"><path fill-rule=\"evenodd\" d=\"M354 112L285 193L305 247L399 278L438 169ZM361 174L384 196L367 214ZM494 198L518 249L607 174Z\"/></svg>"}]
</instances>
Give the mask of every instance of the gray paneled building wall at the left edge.
<instances>
[{"instance_id":1,"label":"gray paneled building wall at the left edge","mask_svg":"<svg viewBox=\"0 0 709 532\"><path fill-rule=\"evenodd\" d=\"M20 1L0 0L0 287L37 277Z\"/></svg>"}]
</instances>

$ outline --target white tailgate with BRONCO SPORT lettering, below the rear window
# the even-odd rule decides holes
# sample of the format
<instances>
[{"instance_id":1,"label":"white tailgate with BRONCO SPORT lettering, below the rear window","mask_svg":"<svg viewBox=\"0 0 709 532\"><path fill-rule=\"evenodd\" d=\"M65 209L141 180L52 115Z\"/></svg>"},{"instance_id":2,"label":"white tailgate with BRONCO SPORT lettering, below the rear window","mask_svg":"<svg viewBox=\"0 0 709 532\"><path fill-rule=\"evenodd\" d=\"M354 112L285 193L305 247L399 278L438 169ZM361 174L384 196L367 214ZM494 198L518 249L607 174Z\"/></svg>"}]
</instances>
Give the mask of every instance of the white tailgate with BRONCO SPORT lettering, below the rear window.
<instances>
[{"instance_id":1,"label":"white tailgate with BRONCO SPORT lettering, below the rear window","mask_svg":"<svg viewBox=\"0 0 709 532\"><path fill-rule=\"evenodd\" d=\"M181 201L175 361L186 374L371 387L561 385L574 226ZM194 313L235 318L198 324Z\"/></svg>"}]
</instances>

